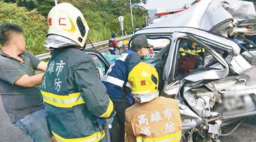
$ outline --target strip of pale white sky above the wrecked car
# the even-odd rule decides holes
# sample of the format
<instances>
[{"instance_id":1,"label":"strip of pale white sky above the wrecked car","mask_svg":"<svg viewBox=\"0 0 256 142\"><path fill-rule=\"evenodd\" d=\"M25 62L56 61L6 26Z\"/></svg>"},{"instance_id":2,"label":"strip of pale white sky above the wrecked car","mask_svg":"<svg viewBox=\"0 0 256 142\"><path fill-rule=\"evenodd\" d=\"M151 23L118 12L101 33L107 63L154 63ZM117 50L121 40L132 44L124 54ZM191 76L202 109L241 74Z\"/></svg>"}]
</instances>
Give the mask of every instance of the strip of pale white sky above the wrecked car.
<instances>
[{"instance_id":1,"label":"strip of pale white sky above the wrecked car","mask_svg":"<svg viewBox=\"0 0 256 142\"><path fill-rule=\"evenodd\" d=\"M166 7L167 10L181 9L185 4L195 0L147 0L144 5L146 9L156 9L158 7Z\"/></svg>"}]
</instances>

